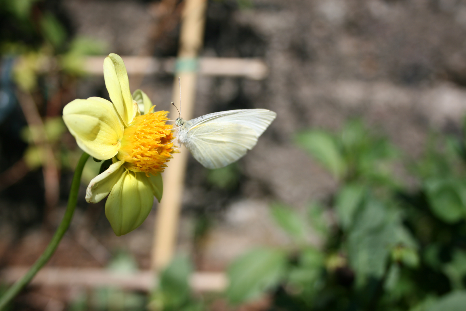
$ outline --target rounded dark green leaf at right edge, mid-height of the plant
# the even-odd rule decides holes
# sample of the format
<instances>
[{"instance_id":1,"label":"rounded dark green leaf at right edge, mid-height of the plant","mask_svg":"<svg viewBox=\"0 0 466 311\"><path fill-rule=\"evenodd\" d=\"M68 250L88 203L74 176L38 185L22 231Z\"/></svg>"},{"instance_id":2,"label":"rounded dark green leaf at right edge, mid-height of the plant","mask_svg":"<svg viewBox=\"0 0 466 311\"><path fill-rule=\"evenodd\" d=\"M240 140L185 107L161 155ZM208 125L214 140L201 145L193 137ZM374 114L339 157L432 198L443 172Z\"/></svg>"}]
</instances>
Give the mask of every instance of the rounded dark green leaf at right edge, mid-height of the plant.
<instances>
[{"instance_id":1,"label":"rounded dark green leaf at right edge, mid-height of the plant","mask_svg":"<svg viewBox=\"0 0 466 311\"><path fill-rule=\"evenodd\" d=\"M425 182L429 207L442 221L454 223L464 218L465 207L458 190L458 185L450 180L435 179Z\"/></svg>"}]
</instances>

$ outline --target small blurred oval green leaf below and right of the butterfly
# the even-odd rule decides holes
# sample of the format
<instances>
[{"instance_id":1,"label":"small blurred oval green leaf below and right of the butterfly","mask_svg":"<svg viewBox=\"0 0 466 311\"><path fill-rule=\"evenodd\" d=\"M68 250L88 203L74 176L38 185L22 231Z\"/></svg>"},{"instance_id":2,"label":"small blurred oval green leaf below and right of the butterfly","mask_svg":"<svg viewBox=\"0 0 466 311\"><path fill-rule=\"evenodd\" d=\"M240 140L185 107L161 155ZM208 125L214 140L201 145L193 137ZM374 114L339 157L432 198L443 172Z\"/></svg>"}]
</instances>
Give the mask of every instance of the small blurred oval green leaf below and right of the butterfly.
<instances>
[{"instance_id":1,"label":"small blurred oval green leaf below and right of the butterfly","mask_svg":"<svg viewBox=\"0 0 466 311\"><path fill-rule=\"evenodd\" d=\"M305 224L302 217L291 207L274 203L271 207L271 214L275 222L290 236L296 239L304 238L306 233Z\"/></svg>"}]
</instances>

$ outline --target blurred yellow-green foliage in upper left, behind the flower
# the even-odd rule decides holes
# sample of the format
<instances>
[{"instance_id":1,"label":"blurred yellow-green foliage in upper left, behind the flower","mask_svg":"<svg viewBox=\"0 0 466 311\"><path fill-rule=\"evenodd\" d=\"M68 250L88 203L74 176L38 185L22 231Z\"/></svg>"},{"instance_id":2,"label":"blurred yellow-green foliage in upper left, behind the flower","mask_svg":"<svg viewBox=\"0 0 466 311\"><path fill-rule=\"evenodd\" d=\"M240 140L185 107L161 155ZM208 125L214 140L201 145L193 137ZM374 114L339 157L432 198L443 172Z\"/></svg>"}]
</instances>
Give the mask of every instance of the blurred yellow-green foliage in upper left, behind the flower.
<instances>
[{"instance_id":1,"label":"blurred yellow-green foliage in upper left, behind the flower","mask_svg":"<svg viewBox=\"0 0 466 311\"><path fill-rule=\"evenodd\" d=\"M81 154L74 143L64 138L66 127L62 107L74 99L75 83L84 74L86 55L102 55L105 44L91 38L73 36L62 10L62 1L0 0L0 66L12 60L12 69L2 76L1 91L12 98L26 93L34 100L42 125L28 124L21 138L28 144L23 160L33 170L46 161L48 149L54 154L58 169L72 169ZM1 103L0 106L5 106ZM0 109L0 121L14 109ZM45 133L32 139L31 133ZM99 168L86 166L84 180L90 180ZM91 175L94 175L91 177Z\"/></svg>"}]
</instances>

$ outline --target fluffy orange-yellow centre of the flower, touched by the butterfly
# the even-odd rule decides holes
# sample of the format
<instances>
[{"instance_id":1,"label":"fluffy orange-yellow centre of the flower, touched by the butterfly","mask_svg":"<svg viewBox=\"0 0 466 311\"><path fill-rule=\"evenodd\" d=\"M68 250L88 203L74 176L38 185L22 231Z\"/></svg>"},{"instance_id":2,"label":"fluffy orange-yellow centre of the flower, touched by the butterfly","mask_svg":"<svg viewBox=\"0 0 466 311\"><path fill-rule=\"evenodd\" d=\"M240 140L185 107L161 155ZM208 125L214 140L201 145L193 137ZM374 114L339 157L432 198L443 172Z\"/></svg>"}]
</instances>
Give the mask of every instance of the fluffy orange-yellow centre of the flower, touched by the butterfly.
<instances>
[{"instance_id":1,"label":"fluffy orange-yellow centre of the flower, touched by the butterfly","mask_svg":"<svg viewBox=\"0 0 466 311\"><path fill-rule=\"evenodd\" d=\"M151 108L154 108L154 106ZM165 124L168 111L156 111L137 116L123 132L117 158L123 160L130 171L149 173L163 172L165 162L173 150L173 125Z\"/></svg>"}]
</instances>

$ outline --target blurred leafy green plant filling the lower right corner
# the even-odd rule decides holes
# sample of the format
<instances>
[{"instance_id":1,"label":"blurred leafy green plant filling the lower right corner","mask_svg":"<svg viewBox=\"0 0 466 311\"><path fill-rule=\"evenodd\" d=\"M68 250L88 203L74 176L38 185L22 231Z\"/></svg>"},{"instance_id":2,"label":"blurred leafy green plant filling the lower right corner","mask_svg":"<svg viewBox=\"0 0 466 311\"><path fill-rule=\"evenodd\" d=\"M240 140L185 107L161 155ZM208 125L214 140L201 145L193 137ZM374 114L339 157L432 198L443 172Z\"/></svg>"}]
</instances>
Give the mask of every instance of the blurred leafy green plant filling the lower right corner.
<instances>
[{"instance_id":1,"label":"blurred leafy green plant filling the lower right corner","mask_svg":"<svg viewBox=\"0 0 466 311\"><path fill-rule=\"evenodd\" d=\"M272 205L292 243L234 261L231 303L268 292L271 310L464 310L462 138L432 137L422 159L408 165L410 184L394 173L409 161L359 121L338 134L304 131L296 143L340 186L330 203L311 202L305 213ZM320 239L318 246L310 236Z\"/></svg>"}]
</instances>

